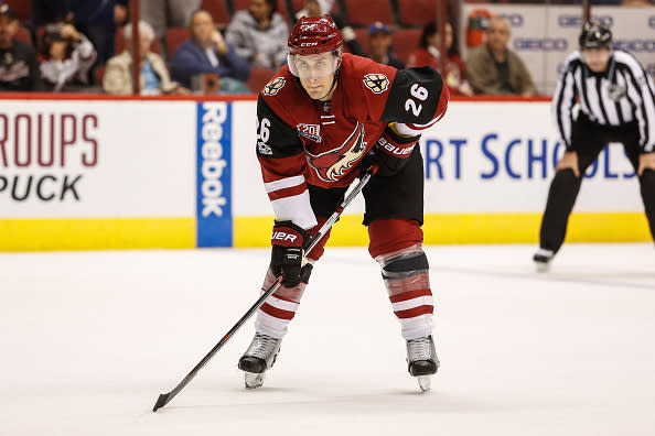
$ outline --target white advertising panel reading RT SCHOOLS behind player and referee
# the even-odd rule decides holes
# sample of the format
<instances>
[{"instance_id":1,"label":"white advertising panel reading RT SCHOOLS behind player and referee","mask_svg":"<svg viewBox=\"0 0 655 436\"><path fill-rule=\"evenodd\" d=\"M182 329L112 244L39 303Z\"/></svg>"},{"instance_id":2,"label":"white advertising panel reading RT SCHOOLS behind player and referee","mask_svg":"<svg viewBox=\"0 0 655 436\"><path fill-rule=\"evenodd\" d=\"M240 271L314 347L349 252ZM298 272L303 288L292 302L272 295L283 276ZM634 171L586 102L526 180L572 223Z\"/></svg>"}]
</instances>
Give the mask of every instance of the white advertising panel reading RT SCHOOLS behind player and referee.
<instances>
[{"instance_id":1,"label":"white advertising panel reading RT SCHOOLS behind player and referee","mask_svg":"<svg viewBox=\"0 0 655 436\"><path fill-rule=\"evenodd\" d=\"M234 111L234 215L271 216L255 155L256 102L236 102ZM547 101L451 101L444 119L422 135L421 151L426 214L541 212L563 146ZM362 212L362 203L348 212ZM643 210L620 144L589 168L576 210Z\"/></svg>"}]
</instances>

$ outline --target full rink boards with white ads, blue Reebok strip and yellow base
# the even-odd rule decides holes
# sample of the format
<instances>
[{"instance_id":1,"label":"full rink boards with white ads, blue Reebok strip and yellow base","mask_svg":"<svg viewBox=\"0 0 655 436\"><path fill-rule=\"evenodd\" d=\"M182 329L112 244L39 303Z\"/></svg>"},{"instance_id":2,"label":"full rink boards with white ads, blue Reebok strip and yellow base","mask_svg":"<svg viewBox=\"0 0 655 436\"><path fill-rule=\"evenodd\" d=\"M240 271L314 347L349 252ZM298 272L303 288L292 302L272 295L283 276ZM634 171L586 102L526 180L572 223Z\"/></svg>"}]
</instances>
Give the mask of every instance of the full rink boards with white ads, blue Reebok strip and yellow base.
<instances>
[{"instance_id":1,"label":"full rink boards with white ads, blue Reebok strip and yellow base","mask_svg":"<svg viewBox=\"0 0 655 436\"><path fill-rule=\"evenodd\" d=\"M0 250L266 247L256 101L0 100ZM562 153L546 100L451 101L421 139L427 243L535 242ZM331 244L366 244L363 201ZM569 241L648 240L619 144L589 170Z\"/></svg>"}]
</instances>

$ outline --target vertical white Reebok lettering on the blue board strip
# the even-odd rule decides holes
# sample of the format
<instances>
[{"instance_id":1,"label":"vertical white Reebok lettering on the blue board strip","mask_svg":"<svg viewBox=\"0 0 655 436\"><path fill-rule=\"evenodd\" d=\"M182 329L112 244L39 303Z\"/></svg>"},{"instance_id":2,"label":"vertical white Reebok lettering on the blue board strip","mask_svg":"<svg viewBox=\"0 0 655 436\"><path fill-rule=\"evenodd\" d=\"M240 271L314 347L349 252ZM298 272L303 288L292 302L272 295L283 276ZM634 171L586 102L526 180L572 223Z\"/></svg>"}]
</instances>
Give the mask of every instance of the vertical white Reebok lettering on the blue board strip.
<instances>
[{"instance_id":1,"label":"vertical white Reebok lettering on the blue board strip","mask_svg":"<svg viewBox=\"0 0 655 436\"><path fill-rule=\"evenodd\" d=\"M227 119L227 103L224 101L203 103L206 112L202 119L201 138L203 141L201 148L203 177L201 184L203 218L210 215L223 216L222 207L227 204L223 193L223 168L227 166L227 161L223 159L223 123Z\"/></svg>"}]
</instances>

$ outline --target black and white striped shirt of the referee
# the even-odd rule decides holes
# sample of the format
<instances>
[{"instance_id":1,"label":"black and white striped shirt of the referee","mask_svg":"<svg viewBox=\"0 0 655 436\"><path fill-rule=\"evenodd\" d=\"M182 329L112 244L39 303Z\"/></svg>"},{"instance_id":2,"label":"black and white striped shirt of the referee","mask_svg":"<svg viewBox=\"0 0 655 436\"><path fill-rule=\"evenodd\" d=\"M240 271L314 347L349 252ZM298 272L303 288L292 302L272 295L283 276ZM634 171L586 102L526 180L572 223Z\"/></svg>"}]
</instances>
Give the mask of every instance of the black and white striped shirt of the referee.
<instances>
[{"instance_id":1,"label":"black and white striped shirt of the referee","mask_svg":"<svg viewBox=\"0 0 655 436\"><path fill-rule=\"evenodd\" d=\"M631 54L613 51L602 74L592 73L579 51L569 55L552 97L557 129L567 150L578 100L580 111L599 124L619 127L636 120L642 150L655 151L655 86Z\"/></svg>"}]
</instances>

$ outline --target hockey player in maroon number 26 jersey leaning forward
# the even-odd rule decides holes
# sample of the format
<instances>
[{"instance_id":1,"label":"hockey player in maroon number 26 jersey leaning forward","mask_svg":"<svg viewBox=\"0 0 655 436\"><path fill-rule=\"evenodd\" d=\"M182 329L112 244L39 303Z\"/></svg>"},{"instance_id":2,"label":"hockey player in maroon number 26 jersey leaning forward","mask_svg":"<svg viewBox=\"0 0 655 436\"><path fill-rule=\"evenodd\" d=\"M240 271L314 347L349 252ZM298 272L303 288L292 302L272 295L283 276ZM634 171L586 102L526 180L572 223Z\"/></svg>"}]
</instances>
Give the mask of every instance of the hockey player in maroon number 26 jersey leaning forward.
<instances>
[{"instance_id":1,"label":"hockey player in maroon number 26 jersey leaning forward","mask_svg":"<svg viewBox=\"0 0 655 436\"><path fill-rule=\"evenodd\" d=\"M330 232L309 241L371 162L364 225L407 342L409 373L428 390L439 368L433 302L422 250L423 162L417 142L448 107L448 88L429 67L396 70L342 53L342 36L324 15L303 18L289 36L288 66L259 95L257 155L276 215L262 288L282 275L261 306L256 335L239 360L246 388L264 383L276 362L313 264Z\"/></svg>"}]
</instances>

